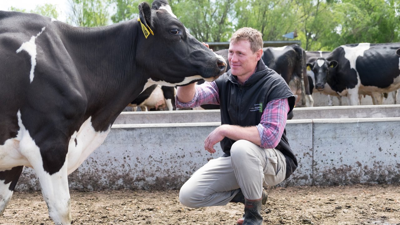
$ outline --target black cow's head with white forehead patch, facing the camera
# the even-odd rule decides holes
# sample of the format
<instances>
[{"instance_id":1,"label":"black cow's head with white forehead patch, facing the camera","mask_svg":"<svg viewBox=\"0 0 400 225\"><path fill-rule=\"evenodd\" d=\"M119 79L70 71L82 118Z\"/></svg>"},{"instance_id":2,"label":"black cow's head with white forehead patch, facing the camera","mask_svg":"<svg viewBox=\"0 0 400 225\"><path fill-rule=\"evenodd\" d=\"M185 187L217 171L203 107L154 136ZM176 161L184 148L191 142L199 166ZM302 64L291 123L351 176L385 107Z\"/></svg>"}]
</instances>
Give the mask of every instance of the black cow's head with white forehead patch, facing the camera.
<instances>
[{"instance_id":1,"label":"black cow's head with white forehead patch, facing the camera","mask_svg":"<svg viewBox=\"0 0 400 225\"><path fill-rule=\"evenodd\" d=\"M330 70L336 68L337 65L337 61L328 61L325 58L318 58L314 62L307 63L307 69L314 72L315 88L317 90L324 90Z\"/></svg>"}]
</instances>

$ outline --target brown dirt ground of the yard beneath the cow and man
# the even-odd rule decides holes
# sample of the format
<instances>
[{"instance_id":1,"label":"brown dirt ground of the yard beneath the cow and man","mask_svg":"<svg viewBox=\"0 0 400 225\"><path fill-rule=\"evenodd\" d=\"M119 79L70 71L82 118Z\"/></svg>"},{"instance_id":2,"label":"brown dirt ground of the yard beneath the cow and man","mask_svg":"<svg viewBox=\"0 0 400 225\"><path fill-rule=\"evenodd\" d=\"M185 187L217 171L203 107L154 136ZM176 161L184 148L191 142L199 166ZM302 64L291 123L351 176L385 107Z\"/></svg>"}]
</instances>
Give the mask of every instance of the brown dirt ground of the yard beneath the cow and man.
<instances>
[{"instance_id":1,"label":"brown dirt ground of the yard beneath the cow and man","mask_svg":"<svg viewBox=\"0 0 400 225\"><path fill-rule=\"evenodd\" d=\"M272 187L268 225L400 225L399 185ZM73 225L234 225L243 205L190 209L178 191L71 191ZM40 192L14 193L0 225L53 225Z\"/></svg>"}]
</instances>

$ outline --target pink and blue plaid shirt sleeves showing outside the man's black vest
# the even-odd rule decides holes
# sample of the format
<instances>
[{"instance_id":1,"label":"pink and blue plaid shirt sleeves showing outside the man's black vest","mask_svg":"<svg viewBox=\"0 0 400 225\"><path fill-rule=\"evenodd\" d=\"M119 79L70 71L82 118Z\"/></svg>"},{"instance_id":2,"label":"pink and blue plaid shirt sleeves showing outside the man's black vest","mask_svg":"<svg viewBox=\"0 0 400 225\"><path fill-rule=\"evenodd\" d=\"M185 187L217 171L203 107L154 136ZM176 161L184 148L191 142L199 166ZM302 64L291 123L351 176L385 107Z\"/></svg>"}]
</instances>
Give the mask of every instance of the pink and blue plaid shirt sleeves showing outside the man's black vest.
<instances>
[{"instance_id":1,"label":"pink and blue plaid shirt sleeves showing outside the man's black vest","mask_svg":"<svg viewBox=\"0 0 400 225\"><path fill-rule=\"evenodd\" d=\"M218 87L215 82L204 82L204 84L196 85L196 93L190 102L183 103L176 99L177 108L195 108L202 104L220 104ZM268 102L262 112L261 121L256 126L261 139L260 147L272 149L279 144L286 126L288 112L287 98Z\"/></svg>"}]
</instances>

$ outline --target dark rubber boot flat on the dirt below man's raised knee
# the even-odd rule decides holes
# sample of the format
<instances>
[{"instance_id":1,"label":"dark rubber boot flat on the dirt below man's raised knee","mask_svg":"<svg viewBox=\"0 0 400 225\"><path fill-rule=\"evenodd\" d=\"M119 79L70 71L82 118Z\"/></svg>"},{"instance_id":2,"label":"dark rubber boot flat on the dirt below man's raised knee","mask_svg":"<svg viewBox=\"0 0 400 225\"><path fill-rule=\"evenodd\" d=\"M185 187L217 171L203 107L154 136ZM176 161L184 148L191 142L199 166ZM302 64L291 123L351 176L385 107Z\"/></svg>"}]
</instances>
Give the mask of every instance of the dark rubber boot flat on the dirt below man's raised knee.
<instances>
[{"instance_id":1,"label":"dark rubber boot flat on the dirt below man's raised knee","mask_svg":"<svg viewBox=\"0 0 400 225\"><path fill-rule=\"evenodd\" d=\"M262 198L258 200L245 199L242 225L262 225L261 206Z\"/></svg>"}]
</instances>

